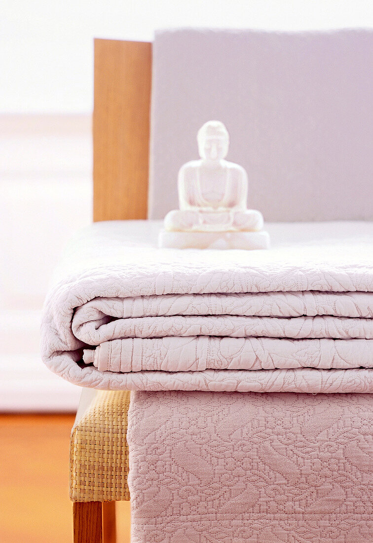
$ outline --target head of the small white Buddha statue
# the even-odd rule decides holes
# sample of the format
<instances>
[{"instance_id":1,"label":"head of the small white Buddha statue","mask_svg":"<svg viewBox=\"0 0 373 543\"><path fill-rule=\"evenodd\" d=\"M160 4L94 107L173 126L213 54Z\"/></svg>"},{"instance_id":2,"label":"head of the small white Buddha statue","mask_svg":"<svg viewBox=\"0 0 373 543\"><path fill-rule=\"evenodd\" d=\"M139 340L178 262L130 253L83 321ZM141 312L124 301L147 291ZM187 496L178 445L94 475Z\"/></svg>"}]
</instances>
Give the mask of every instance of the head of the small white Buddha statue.
<instances>
[{"instance_id":1,"label":"head of the small white Buddha statue","mask_svg":"<svg viewBox=\"0 0 373 543\"><path fill-rule=\"evenodd\" d=\"M220 121L208 121L197 134L198 151L201 159L225 159L229 149L229 134Z\"/></svg>"}]
</instances>

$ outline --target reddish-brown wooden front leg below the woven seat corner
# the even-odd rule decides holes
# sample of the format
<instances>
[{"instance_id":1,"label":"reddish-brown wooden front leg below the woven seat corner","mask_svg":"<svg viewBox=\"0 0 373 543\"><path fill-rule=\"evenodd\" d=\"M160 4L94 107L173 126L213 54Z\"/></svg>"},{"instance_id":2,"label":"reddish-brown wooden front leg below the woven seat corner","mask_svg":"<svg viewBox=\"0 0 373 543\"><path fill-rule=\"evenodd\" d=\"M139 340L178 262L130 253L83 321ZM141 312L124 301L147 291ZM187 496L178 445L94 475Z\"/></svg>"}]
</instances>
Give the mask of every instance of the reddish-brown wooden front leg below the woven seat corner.
<instances>
[{"instance_id":1,"label":"reddish-brown wooden front leg below the woven seat corner","mask_svg":"<svg viewBox=\"0 0 373 543\"><path fill-rule=\"evenodd\" d=\"M102 503L74 502L74 543L102 543Z\"/></svg>"}]
</instances>

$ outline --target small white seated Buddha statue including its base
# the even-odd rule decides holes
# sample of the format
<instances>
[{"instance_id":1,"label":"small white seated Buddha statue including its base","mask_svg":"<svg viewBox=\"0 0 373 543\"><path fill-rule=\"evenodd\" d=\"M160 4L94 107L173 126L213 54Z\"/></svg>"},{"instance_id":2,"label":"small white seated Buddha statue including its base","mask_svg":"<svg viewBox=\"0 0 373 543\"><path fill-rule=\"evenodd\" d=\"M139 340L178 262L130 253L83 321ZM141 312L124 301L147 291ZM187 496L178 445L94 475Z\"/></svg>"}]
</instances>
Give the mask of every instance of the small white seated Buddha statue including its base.
<instances>
[{"instance_id":1,"label":"small white seated Buddha statue including its base","mask_svg":"<svg viewBox=\"0 0 373 543\"><path fill-rule=\"evenodd\" d=\"M178 175L179 210L165 217L161 247L267 248L269 237L259 211L247 209L248 177L225 157L229 134L223 123L208 121L198 131L200 160Z\"/></svg>"}]
</instances>

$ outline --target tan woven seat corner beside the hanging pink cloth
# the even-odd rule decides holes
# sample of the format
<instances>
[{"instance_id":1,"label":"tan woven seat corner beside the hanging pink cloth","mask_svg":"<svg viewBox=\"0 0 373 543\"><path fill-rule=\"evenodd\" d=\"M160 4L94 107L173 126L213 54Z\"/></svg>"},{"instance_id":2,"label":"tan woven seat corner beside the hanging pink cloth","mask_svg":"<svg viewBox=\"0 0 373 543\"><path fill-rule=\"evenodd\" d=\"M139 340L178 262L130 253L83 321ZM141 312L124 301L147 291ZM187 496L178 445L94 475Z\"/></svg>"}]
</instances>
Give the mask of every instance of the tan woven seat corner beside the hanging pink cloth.
<instances>
[{"instance_id":1,"label":"tan woven seat corner beside the hanging pink cloth","mask_svg":"<svg viewBox=\"0 0 373 543\"><path fill-rule=\"evenodd\" d=\"M75 502L129 500L127 390L98 392L70 440L70 498Z\"/></svg>"}]
</instances>

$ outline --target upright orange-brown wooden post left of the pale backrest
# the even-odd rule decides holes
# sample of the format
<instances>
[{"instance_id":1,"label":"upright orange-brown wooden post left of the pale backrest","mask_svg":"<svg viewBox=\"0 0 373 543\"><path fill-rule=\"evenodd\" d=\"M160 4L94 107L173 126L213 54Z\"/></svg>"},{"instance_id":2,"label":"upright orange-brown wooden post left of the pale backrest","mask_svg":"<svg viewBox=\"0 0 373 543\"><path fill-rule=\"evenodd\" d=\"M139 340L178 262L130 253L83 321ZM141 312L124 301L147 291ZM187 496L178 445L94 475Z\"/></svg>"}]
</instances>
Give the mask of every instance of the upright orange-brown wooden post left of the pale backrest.
<instances>
[{"instance_id":1,"label":"upright orange-brown wooden post left of the pale backrest","mask_svg":"<svg viewBox=\"0 0 373 543\"><path fill-rule=\"evenodd\" d=\"M151 43L94 40L93 220L148 215Z\"/></svg>"}]
</instances>

